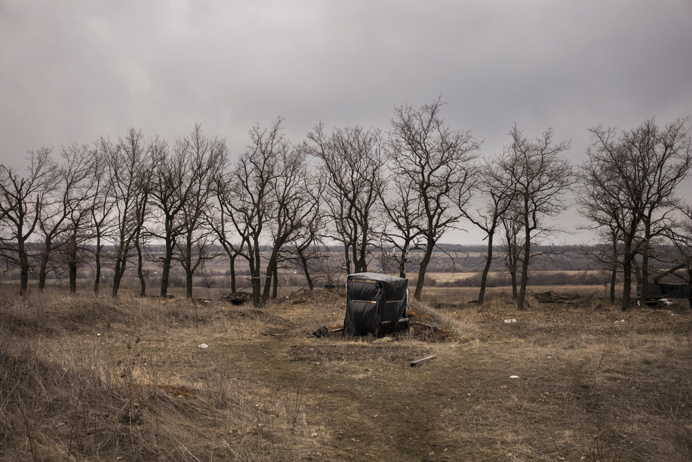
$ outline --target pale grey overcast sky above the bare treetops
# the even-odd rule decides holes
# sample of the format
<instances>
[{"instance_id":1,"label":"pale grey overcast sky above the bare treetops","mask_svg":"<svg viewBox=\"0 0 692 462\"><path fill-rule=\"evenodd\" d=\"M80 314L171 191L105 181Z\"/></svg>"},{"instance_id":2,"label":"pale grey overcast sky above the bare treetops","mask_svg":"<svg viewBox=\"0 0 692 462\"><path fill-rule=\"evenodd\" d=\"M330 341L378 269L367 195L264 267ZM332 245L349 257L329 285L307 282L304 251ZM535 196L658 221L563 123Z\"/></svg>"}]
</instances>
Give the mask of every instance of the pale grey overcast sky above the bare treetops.
<instances>
[{"instance_id":1,"label":"pale grey overcast sky above the bare treetops","mask_svg":"<svg viewBox=\"0 0 692 462\"><path fill-rule=\"evenodd\" d=\"M592 125L692 114L692 0L0 0L6 165L195 122L238 156L279 115L300 142L320 120L386 130L440 94L486 155L516 122L581 163Z\"/></svg>"}]
</instances>

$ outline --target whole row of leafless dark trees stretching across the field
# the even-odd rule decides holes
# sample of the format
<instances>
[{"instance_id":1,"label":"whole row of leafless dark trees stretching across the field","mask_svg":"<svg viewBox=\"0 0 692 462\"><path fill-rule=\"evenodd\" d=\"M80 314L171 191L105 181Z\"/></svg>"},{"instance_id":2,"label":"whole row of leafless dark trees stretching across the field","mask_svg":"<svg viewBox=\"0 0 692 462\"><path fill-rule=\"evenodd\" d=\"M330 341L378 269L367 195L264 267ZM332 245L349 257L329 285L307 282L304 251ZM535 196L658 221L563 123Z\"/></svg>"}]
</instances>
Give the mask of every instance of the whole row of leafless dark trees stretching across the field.
<instances>
[{"instance_id":1,"label":"whole row of leafless dark trees stretching across the field","mask_svg":"<svg viewBox=\"0 0 692 462\"><path fill-rule=\"evenodd\" d=\"M656 259L686 269L690 280L692 209L675 195L692 162L689 118L665 127L647 120L628 131L592 127L588 160L572 166L564 157L570 143L554 140L552 129L530 137L516 125L501 153L482 157L481 141L448 127L442 107L440 98L397 107L388 131L328 131L319 123L299 143L286 140L277 118L250 129L235 162L225 140L199 124L173 141L131 128L117 141L30 151L23 172L0 165L0 259L6 271L19 270L21 294L30 273L43 290L49 273L65 269L75 293L78 269L89 266L94 293L104 267L113 270L113 297L134 267L144 296L143 268L154 261L159 295L178 266L192 297L193 276L219 255L228 258L235 290L240 257L253 304L262 306L277 297L282 267L301 268L313 288L313 263L336 242L346 273L396 258L406 277L416 252L420 299L433 252L466 222L487 241L478 301L499 241L522 309L531 260L549 251L542 245L555 231L549 219L571 205L572 192L601 241L593 253L610 271L612 301L618 274L623 309L632 272L646 295ZM674 257L655 251L664 241L677 249Z\"/></svg>"}]
</instances>

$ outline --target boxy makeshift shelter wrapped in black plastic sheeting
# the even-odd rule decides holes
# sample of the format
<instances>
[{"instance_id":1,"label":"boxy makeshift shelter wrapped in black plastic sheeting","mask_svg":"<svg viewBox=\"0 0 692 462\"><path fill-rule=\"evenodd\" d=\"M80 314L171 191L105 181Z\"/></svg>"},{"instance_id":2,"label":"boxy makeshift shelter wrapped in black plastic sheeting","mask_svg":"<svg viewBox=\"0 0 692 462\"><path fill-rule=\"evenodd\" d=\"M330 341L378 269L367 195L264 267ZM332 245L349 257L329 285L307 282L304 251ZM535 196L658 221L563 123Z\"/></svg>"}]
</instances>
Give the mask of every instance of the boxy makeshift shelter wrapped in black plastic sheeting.
<instances>
[{"instance_id":1,"label":"boxy makeshift shelter wrapped in black plastic sheeting","mask_svg":"<svg viewBox=\"0 0 692 462\"><path fill-rule=\"evenodd\" d=\"M408 281L376 272L346 278L344 335L385 335L408 326Z\"/></svg>"}]
</instances>

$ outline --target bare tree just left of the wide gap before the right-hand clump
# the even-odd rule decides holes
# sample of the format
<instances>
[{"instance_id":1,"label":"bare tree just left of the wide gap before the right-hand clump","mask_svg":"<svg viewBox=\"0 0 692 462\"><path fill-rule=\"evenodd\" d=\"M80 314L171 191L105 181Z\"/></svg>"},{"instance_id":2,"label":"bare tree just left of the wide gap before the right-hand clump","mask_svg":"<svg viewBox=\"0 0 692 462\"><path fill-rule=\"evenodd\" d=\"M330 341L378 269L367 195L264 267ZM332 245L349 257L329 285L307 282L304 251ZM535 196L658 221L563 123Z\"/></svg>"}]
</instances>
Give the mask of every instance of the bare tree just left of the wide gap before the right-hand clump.
<instances>
[{"instance_id":1,"label":"bare tree just left of the wide gap before the right-hand clump","mask_svg":"<svg viewBox=\"0 0 692 462\"><path fill-rule=\"evenodd\" d=\"M549 232L546 219L567 208L563 196L574 183L574 174L570 163L562 157L570 143L554 142L552 129L531 140L515 125L509 136L511 145L504 150L498 167L510 178L514 203L522 221L524 248L517 296L517 308L522 310L536 234Z\"/></svg>"}]
</instances>

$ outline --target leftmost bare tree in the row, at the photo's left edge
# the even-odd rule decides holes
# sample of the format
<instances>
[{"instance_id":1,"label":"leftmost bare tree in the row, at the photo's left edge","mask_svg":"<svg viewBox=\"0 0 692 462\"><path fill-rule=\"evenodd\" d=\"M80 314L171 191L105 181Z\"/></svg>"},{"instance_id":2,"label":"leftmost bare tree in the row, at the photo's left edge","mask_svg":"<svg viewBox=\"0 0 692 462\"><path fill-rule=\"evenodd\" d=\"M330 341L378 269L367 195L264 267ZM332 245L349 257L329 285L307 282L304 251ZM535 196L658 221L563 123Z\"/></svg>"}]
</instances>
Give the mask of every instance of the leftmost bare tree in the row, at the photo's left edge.
<instances>
[{"instance_id":1,"label":"leftmost bare tree in the row, at the photo's left edge","mask_svg":"<svg viewBox=\"0 0 692 462\"><path fill-rule=\"evenodd\" d=\"M30 270L28 239L41 214L44 196L55 186L51 149L30 151L28 172L0 165L0 255L6 264L19 267L19 294L25 295Z\"/></svg>"}]
</instances>

